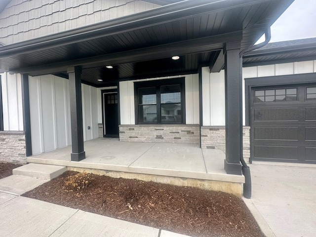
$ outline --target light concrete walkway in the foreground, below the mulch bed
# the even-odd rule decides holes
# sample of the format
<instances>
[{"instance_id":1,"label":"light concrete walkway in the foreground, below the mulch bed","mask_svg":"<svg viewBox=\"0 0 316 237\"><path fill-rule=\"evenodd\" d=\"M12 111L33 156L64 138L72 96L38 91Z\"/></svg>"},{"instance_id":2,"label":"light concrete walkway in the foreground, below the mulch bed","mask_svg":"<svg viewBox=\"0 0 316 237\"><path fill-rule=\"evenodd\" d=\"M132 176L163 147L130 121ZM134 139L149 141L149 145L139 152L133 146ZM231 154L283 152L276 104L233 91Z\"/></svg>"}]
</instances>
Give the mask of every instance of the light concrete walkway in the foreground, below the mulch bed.
<instances>
[{"instance_id":1,"label":"light concrete walkway in the foreground, below the mulch bed","mask_svg":"<svg viewBox=\"0 0 316 237\"><path fill-rule=\"evenodd\" d=\"M185 237L3 192L0 192L0 236Z\"/></svg>"}]
</instances>

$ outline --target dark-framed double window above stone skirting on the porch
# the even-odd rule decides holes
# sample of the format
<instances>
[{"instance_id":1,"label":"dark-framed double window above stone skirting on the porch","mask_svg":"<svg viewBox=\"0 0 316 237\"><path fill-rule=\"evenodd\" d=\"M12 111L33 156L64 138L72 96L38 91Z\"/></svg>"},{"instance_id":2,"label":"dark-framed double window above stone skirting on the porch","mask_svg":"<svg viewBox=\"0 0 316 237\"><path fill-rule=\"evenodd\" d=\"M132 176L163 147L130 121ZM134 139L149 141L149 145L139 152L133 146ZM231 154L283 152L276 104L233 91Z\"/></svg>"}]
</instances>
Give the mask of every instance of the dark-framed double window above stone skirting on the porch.
<instances>
[{"instance_id":1,"label":"dark-framed double window above stone skirting on the porch","mask_svg":"<svg viewBox=\"0 0 316 237\"><path fill-rule=\"evenodd\" d=\"M185 123L185 80L134 83L136 123Z\"/></svg>"}]
</instances>

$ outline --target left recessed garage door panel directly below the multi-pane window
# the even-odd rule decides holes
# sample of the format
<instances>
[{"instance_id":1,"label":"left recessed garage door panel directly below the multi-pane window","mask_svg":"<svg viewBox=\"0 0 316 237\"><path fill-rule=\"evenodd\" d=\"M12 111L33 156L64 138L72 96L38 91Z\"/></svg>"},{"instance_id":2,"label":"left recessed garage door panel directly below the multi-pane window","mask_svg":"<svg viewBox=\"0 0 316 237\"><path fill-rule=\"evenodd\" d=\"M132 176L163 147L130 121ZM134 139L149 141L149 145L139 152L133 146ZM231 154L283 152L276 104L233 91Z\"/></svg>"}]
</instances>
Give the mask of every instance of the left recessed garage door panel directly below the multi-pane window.
<instances>
[{"instance_id":1,"label":"left recessed garage door panel directly below the multi-pane window","mask_svg":"<svg viewBox=\"0 0 316 237\"><path fill-rule=\"evenodd\" d=\"M254 121L298 121L298 108L254 109Z\"/></svg>"}]
</instances>

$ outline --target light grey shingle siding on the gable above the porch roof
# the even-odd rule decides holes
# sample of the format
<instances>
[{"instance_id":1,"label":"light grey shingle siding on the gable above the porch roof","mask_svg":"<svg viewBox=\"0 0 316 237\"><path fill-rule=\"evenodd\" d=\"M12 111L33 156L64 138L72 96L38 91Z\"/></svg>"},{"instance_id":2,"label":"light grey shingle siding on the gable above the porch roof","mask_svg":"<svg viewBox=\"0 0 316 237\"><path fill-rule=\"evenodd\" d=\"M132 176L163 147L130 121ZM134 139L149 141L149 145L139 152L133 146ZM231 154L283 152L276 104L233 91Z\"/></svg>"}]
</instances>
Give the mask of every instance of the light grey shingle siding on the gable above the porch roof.
<instances>
[{"instance_id":1,"label":"light grey shingle siding on the gable above the porch roof","mask_svg":"<svg viewBox=\"0 0 316 237\"><path fill-rule=\"evenodd\" d=\"M158 6L141 0L11 0L0 13L0 42L30 40Z\"/></svg>"}]
</instances>

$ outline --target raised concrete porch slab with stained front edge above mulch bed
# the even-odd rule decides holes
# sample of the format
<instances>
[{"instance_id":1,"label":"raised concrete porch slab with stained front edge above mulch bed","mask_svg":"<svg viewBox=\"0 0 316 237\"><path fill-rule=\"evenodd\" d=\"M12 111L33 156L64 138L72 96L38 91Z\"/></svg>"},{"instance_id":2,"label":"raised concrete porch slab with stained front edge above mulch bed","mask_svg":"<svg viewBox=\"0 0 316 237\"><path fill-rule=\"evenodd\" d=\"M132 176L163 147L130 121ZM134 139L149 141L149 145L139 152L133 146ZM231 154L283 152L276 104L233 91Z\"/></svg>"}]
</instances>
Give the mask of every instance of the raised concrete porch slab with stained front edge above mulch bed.
<instances>
[{"instance_id":1,"label":"raised concrete porch slab with stained front edge above mulch bed","mask_svg":"<svg viewBox=\"0 0 316 237\"><path fill-rule=\"evenodd\" d=\"M86 158L81 161L71 161L72 147L68 146L30 156L27 162L242 195L244 176L226 174L221 150L201 149L198 144L119 142L117 138L90 140L84 148Z\"/></svg>"}]
</instances>

